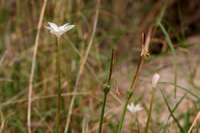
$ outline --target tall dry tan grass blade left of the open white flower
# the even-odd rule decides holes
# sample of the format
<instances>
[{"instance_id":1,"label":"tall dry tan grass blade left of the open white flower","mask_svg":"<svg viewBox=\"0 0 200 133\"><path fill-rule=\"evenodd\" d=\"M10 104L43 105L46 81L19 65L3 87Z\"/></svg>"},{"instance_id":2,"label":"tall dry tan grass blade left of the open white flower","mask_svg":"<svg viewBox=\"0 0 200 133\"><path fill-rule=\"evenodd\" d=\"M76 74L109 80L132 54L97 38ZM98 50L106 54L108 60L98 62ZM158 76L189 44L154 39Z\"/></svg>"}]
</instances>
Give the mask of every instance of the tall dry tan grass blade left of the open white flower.
<instances>
[{"instance_id":1,"label":"tall dry tan grass blade left of the open white flower","mask_svg":"<svg viewBox=\"0 0 200 133\"><path fill-rule=\"evenodd\" d=\"M42 21L44 18L46 4L47 4L47 0L44 0L42 10L40 13L38 27L37 27L37 35L36 35L36 39L35 39L34 53L33 53L32 66L31 66L31 74L30 74L30 79L29 79L28 110L27 110L28 133L31 133L31 101L32 101L31 96L32 96L32 89L33 89L33 78L34 78L34 71L35 71L35 64L36 64L37 49L38 49L38 45L39 45L40 29L41 29Z\"/></svg>"}]
</instances>

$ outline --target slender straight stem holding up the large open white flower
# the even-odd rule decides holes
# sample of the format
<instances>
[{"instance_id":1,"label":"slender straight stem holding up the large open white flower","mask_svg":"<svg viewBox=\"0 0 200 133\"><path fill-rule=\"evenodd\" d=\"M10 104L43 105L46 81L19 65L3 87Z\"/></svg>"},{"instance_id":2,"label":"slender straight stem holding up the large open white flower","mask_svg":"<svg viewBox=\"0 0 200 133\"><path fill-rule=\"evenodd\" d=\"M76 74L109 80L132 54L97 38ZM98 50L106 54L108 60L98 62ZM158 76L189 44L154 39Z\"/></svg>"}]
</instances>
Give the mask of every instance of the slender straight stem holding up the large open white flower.
<instances>
[{"instance_id":1,"label":"slender straight stem holding up the large open white flower","mask_svg":"<svg viewBox=\"0 0 200 133\"><path fill-rule=\"evenodd\" d=\"M60 109L61 109L61 70L60 70L60 62L61 62L61 56L60 56L60 51L61 51L61 45L60 45L60 38L57 37L56 40L57 43L57 83L58 83L58 99L57 99L57 120L56 120L56 133L59 133L59 127L60 127Z\"/></svg>"}]
</instances>

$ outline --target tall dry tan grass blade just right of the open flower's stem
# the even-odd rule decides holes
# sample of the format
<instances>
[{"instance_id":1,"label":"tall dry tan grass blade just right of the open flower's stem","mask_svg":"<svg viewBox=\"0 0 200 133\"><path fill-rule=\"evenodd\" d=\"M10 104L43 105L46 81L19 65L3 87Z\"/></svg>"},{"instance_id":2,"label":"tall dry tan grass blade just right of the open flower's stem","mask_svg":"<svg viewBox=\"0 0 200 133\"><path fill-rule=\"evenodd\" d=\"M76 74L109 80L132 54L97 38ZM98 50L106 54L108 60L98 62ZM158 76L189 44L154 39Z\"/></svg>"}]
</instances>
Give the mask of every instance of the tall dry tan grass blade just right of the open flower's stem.
<instances>
[{"instance_id":1,"label":"tall dry tan grass blade just right of the open flower's stem","mask_svg":"<svg viewBox=\"0 0 200 133\"><path fill-rule=\"evenodd\" d=\"M90 49L91 49L91 46L92 46L92 43L93 43L93 40L94 40L94 36L95 36L95 33L96 33L97 22L98 22L98 17L99 17L99 8L100 8L100 0L97 0L97 8L96 8L96 14L95 14L95 20L94 20L92 35L91 35L91 38L90 38L89 45L87 47L85 56L83 57L83 60L82 60L82 62L80 64L80 68L79 68L79 72L77 74L77 78L76 78L76 82L75 82L75 87L74 87L73 93L77 92L78 84L79 84L79 81L80 81L80 77L81 77L81 75L83 73L83 69L84 69L84 66L86 64L86 61L87 61L87 58L88 58L88 55L89 55L89 52L90 52ZM73 110L75 99L76 99L76 95L73 95L71 103L70 103L67 119L66 119L66 125L65 125L64 133L68 132L70 118L71 118L71 115L72 115L72 110Z\"/></svg>"}]
</instances>

